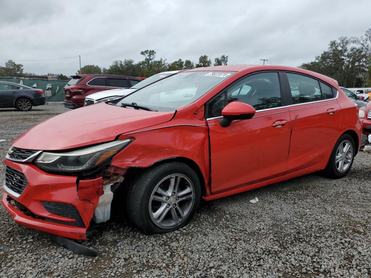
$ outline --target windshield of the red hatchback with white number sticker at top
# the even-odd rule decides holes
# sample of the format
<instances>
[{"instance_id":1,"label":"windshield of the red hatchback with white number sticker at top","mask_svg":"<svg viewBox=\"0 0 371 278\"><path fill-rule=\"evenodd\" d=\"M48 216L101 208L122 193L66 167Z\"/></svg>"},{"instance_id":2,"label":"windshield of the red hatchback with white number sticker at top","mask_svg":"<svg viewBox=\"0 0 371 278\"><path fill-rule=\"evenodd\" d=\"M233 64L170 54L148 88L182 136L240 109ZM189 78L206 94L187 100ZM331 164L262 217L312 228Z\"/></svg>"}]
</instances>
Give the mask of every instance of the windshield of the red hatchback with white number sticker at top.
<instances>
[{"instance_id":1,"label":"windshield of the red hatchback with white number sticker at top","mask_svg":"<svg viewBox=\"0 0 371 278\"><path fill-rule=\"evenodd\" d=\"M234 73L181 72L139 89L120 99L116 105L135 103L157 111L175 111L199 99Z\"/></svg>"}]
</instances>

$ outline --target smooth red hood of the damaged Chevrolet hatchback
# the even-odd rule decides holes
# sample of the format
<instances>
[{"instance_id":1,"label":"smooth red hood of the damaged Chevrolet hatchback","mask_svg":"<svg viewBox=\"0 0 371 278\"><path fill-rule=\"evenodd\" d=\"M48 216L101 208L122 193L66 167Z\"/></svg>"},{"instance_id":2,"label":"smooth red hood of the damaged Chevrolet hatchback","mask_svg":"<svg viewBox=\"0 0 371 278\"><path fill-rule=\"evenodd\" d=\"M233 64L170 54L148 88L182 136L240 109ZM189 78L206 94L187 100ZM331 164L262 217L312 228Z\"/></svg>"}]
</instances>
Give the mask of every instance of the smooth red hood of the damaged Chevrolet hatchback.
<instances>
[{"instance_id":1,"label":"smooth red hood of the damaged Chevrolet hatchback","mask_svg":"<svg viewBox=\"0 0 371 278\"><path fill-rule=\"evenodd\" d=\"M98 103L62 113L27 130L13 146L64 150L115 140L132 130L170 121L174 112L152 112Z\"/></svg>"}]
</instances>

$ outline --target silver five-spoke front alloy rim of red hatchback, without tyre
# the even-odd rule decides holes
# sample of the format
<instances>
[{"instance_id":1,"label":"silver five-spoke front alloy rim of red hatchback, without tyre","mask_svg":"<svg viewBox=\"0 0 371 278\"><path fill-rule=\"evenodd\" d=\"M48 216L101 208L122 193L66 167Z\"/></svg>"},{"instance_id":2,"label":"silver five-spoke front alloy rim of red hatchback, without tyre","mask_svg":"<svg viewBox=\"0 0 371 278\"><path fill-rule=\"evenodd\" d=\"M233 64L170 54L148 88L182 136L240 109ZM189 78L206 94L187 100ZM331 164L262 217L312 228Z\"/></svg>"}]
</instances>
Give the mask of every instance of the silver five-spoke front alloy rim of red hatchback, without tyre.
<instances>
[{"instance_id":1,"label":"silver five-spoke front alloy rim of red hatchback, without tyre","mask_svg":"<svg viewBox=\"0 0 371 278\"><path fill-rule=\"evenodd\" d=\"M163 178L153 189L148 209L155 225L169 229L187 218L193 203L192 182L184 175L174 174Z\"/></svg>"}]
</instances>

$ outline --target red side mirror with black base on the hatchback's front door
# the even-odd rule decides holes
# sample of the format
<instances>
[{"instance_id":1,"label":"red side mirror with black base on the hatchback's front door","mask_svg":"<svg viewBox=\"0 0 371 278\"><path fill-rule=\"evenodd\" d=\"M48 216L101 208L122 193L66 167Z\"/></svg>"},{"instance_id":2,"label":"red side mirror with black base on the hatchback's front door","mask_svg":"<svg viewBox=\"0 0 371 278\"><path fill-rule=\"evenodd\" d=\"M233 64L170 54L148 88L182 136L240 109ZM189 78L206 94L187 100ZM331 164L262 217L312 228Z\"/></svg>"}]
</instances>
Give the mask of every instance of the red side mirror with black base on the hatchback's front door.
<instances>
[{"instance_id":1,"label":"red side mirror with black base on the hatchback's front door","mask_svg":"<svg viewBox=\"0 0 371 278\"><path fill-rule=\"evenodd\" d=\"M222 128L229 126L233 120L249 120L255 115L255 109L247 103L234 101L221 110L223 119L219 121Z\"/></svg>"}]
</instances>

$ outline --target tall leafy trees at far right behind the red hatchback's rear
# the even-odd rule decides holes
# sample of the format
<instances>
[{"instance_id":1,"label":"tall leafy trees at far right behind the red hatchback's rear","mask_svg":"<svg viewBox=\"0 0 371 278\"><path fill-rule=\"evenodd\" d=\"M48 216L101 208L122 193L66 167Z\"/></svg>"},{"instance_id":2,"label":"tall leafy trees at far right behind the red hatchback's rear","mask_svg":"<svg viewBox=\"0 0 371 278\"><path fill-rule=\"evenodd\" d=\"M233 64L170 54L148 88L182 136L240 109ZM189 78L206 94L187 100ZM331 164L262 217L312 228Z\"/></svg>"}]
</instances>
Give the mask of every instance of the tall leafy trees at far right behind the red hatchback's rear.
<instances>
[{"instance_id":1,"label":"tall leafy trees at far right behind the red hatchback's rear","mask_svg":"<svg viewBox=\"0 0 371 278\"><path fill-rule=\"evenodd\" d=\"M361 37L339 37L315 60L299 66L337 80L344 87L371 87L371 29Z\"/></svg>"}]
</instances>

